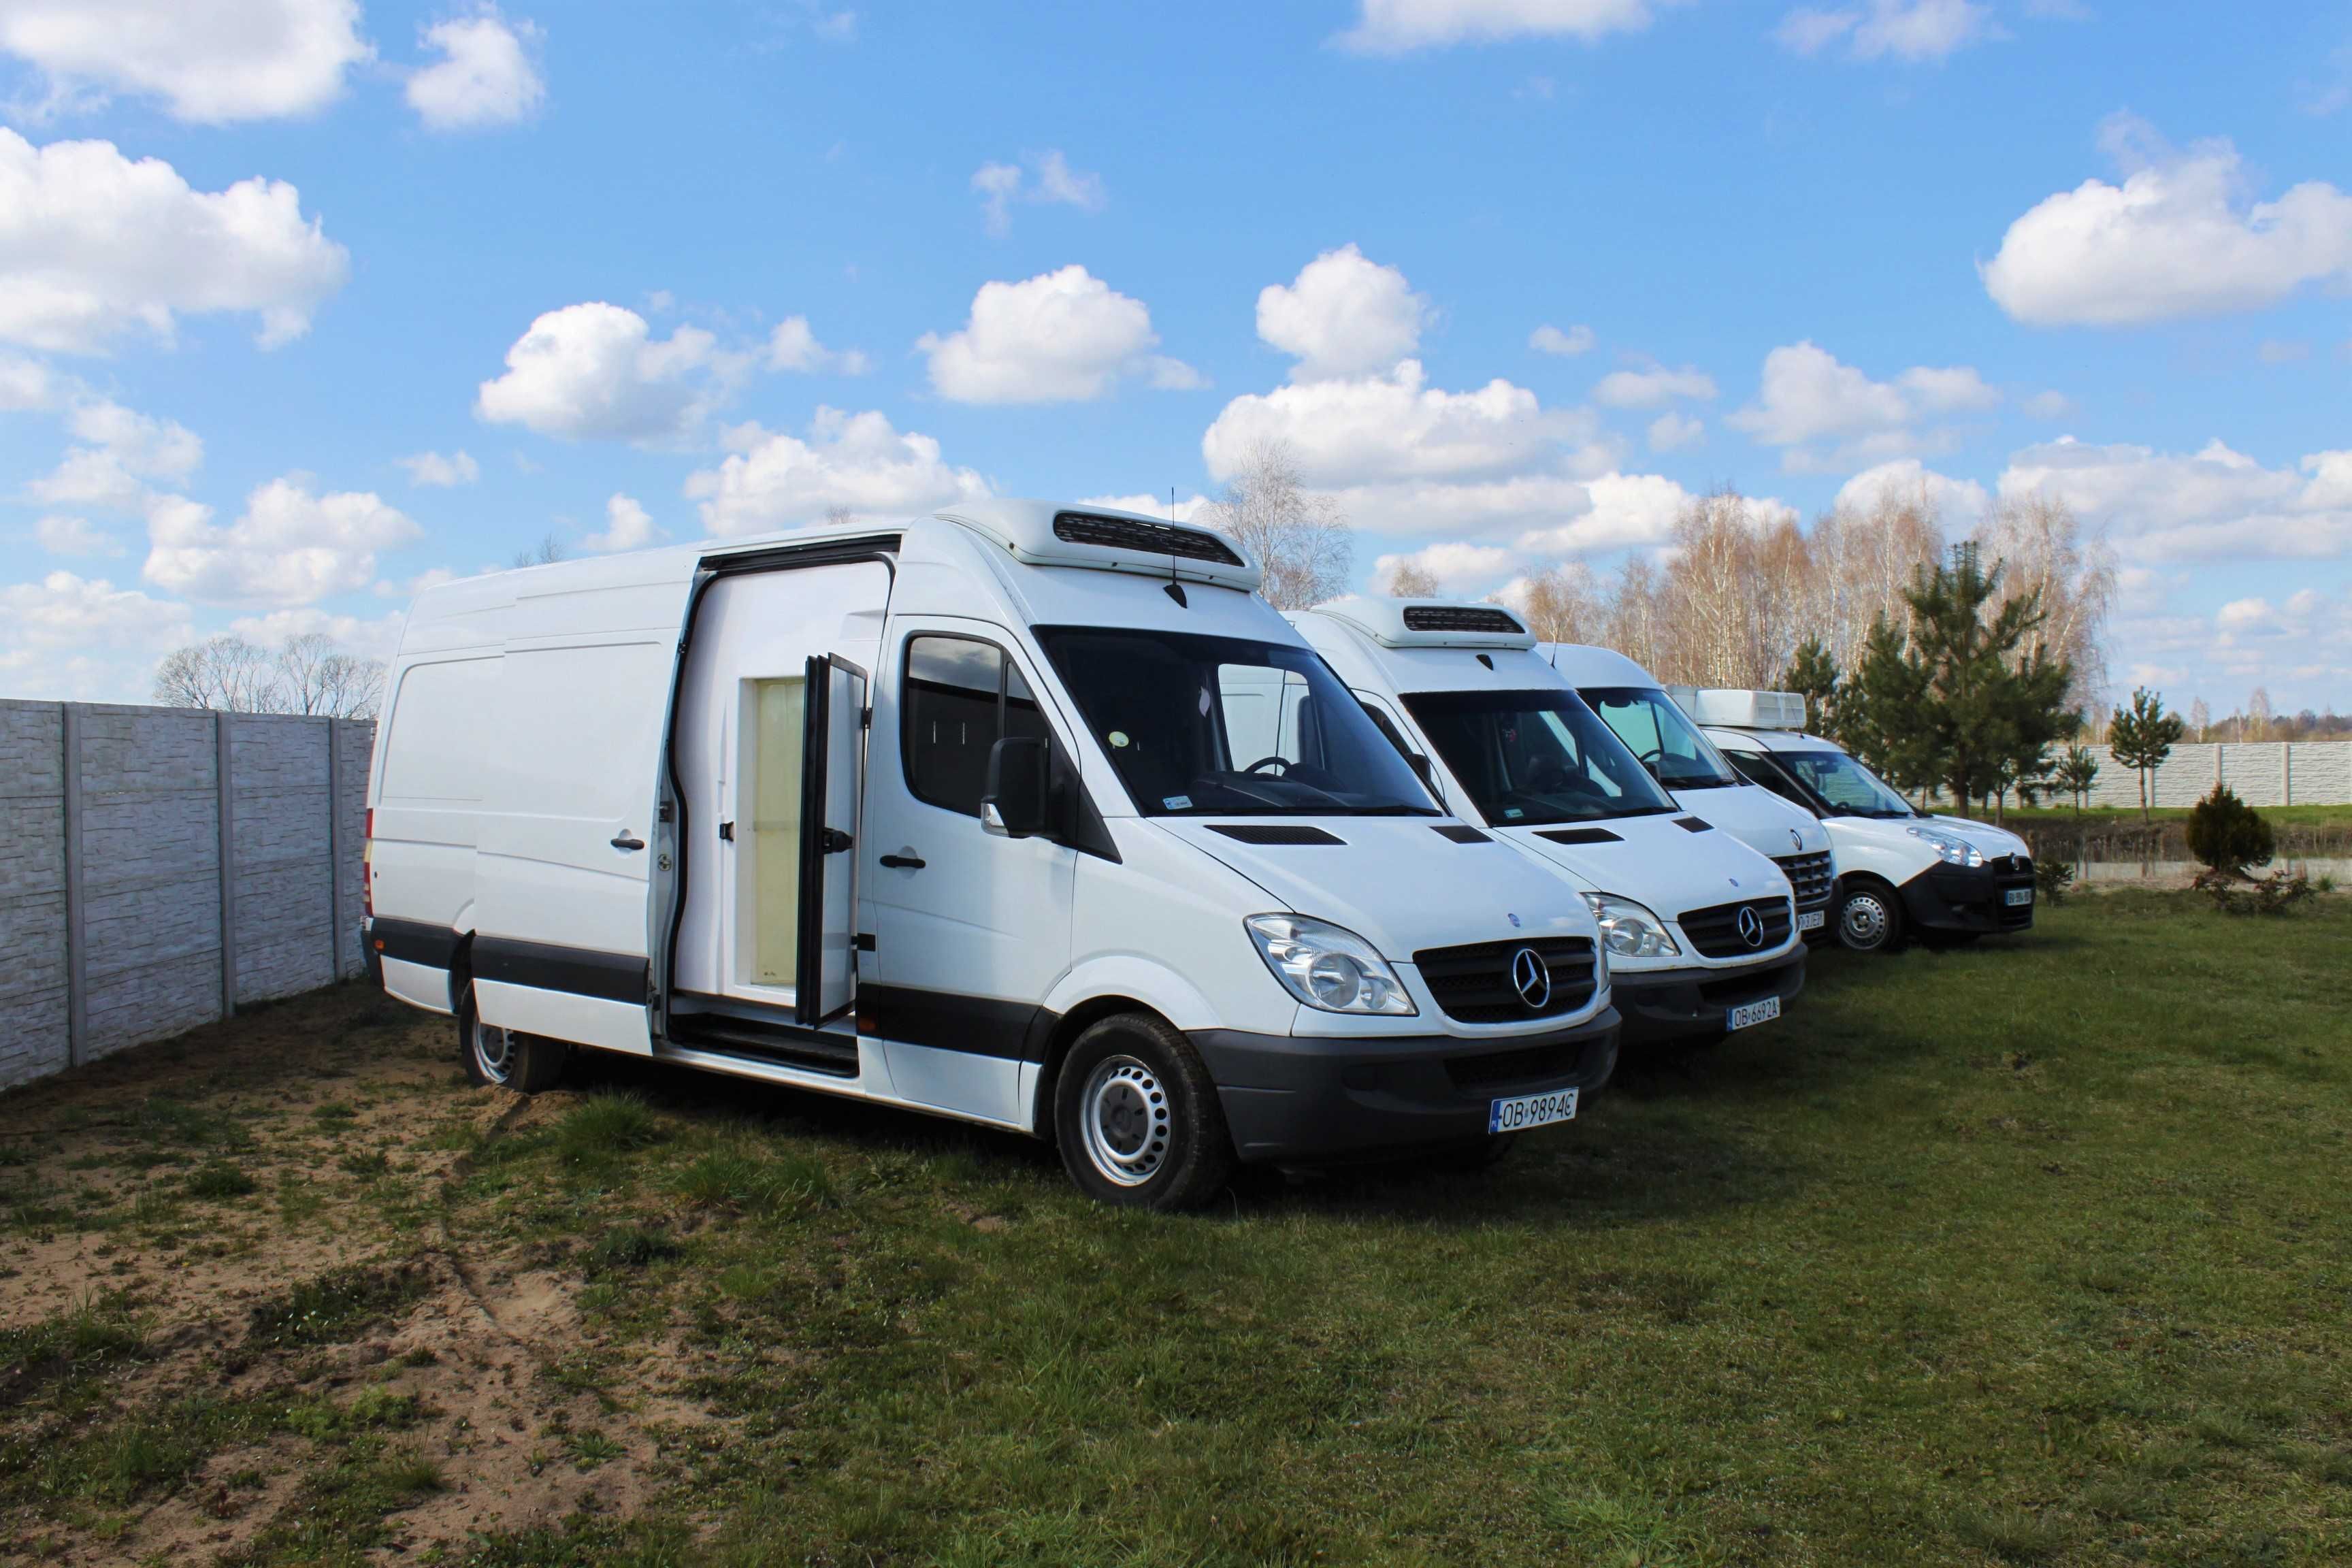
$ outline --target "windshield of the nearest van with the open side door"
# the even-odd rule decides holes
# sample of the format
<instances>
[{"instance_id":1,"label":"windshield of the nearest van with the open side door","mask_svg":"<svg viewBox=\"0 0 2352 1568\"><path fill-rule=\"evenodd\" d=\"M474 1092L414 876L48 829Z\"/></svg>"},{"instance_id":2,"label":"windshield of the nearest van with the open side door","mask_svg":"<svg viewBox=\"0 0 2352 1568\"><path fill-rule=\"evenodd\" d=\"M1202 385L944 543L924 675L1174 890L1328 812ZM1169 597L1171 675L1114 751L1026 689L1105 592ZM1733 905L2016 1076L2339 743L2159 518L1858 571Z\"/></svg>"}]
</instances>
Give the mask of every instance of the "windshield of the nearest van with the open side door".
<instances>
[{"instance_id":1,"label":"windshield of the nearest van with the open side door","mask_svg":"<svg viewBox=\"0 0 2352 1568\"><path fill-rule=\"evenodd\" d=\"M1143 816L1439 816L1310 649L1098 625L1037 642Z\"/></svg>"}]
</instances>

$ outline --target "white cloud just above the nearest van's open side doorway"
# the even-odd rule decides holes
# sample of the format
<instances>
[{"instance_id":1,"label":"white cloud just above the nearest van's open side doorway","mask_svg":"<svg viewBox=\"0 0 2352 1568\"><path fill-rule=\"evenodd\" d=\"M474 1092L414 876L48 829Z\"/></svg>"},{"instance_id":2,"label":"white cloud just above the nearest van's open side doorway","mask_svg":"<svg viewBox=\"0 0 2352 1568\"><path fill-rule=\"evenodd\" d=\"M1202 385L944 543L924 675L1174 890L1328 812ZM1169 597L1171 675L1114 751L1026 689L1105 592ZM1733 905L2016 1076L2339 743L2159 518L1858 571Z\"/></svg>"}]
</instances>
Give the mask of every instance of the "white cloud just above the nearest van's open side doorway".
<instances>
[{"instance_id":1,"label":"white cloud just above the nearest van's open side doorway","mask_svg":"<svg viewBox=\"0 0 2352 1568\"><path fill-rule=\"evenodd\" d=\"M710 534L757 534L816 522L844 505L858 515L929 512L990 494L971 468L953 468L929 435L882 414L818 409L807 435L736 425L729 456L687 477Z\"/></svg>"}]
</instances>

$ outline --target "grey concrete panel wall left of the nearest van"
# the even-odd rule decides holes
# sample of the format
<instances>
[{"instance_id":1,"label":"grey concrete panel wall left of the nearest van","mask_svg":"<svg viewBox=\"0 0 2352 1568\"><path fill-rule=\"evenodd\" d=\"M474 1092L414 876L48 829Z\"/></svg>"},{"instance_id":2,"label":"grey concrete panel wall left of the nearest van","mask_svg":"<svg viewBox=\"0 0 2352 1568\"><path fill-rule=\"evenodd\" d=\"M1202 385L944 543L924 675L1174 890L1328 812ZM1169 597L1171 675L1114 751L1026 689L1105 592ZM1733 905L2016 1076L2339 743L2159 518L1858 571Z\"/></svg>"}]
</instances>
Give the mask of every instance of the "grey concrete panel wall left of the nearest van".
<instances>
[{"instance_id":1,"label":"grey concrete panel wall left of the nearest van","mask_svg":"<svg viewBox=\"0 0 2352 1568\"><path fill-rule=\"evenodd\" d=\"M0 1086L358 973L374 731L0 701Z\"/></svg>"}]
</instances>

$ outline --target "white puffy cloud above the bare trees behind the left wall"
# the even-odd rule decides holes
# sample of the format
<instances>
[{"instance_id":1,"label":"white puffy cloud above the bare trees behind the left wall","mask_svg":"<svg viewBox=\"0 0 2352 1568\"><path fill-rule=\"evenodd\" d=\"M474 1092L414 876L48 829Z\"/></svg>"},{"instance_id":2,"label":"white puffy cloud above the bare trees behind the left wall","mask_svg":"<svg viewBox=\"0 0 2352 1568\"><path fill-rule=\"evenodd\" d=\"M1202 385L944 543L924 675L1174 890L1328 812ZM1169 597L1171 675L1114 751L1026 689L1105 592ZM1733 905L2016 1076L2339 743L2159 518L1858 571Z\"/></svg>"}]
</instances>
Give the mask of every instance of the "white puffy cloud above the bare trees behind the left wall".
<instances>
[{"instance_id":1,"label":"white puffy cloud above the bare trees behind the left wall","mask_svg":"<svg viewBox=\"0 0 2352 1568\"><path fill-rule=\"evenodd\" d=\"M256 487L228 527L212 508L160 496L148 508L146 581L209 604L313 604L367 588L376 550L419 536L367 491L315 494L308 475Z\"/></svg>"}]
</instances>

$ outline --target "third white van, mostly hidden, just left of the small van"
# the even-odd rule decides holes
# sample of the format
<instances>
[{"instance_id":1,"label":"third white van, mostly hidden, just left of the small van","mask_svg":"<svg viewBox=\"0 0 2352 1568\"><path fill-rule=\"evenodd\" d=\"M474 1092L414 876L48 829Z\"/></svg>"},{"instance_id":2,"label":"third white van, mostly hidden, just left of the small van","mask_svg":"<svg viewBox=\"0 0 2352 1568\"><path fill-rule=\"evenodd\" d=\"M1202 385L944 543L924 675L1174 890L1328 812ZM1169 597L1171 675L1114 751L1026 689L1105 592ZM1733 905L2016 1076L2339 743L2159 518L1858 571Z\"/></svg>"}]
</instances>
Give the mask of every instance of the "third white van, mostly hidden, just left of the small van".
<instances>
[{"instance_id":1,"label":"third white van, mostly hidden, just left of the small van","mask_svg":"<svg viewBox=\"0 0 2352 1568\"><path fill-rule=\"evenodd\" d=\"M1830 933L1837 860L1820 818L1750 783L1698 733L1665 686L1623 654L1576 642L1538 642L1536 654L1576 686L1585 708L1602 715L1679 804L1780 867L1797 891L1797 931L1806 940Z\"/></svg>"}]
</instances>

